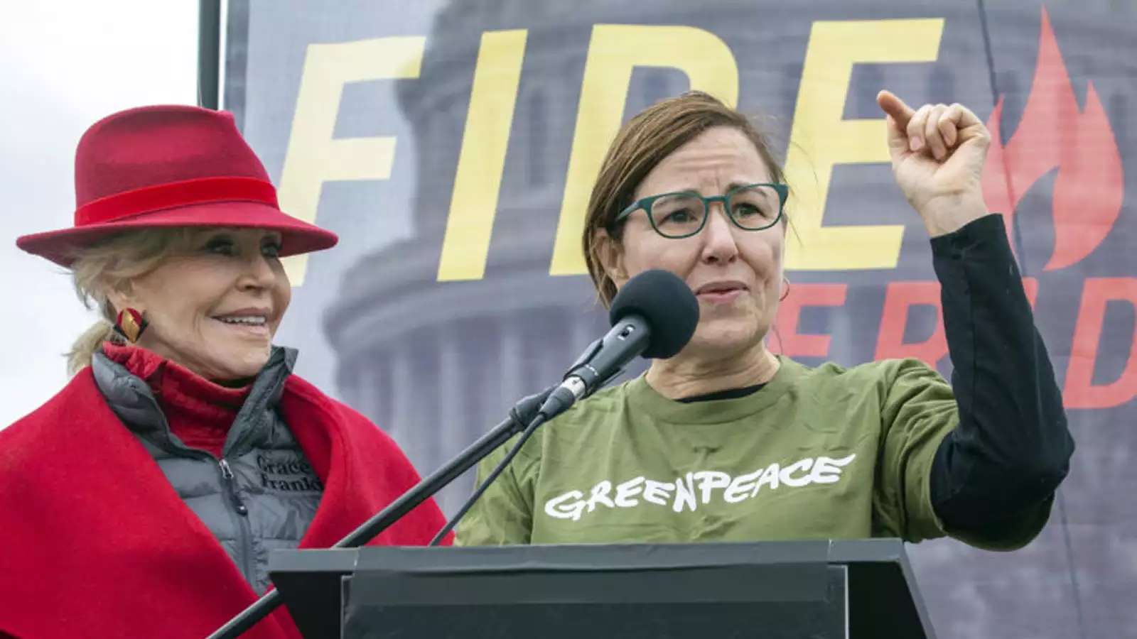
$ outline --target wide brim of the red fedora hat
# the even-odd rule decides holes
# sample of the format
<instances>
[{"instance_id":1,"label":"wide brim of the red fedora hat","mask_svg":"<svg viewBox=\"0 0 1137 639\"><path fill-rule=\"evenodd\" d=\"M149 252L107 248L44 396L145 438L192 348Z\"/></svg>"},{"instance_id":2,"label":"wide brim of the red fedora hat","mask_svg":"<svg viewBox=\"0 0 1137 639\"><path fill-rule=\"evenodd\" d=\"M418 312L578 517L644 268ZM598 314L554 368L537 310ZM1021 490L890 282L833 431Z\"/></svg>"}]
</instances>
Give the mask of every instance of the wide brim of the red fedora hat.
<instances>
[{"instance_id":1,"label":"wide brim of the red fedora hat","mask_svg":"<svg viewBox=\"0 0 1137 639\"><path fill-rule=\"evenodd\" d=\"M329 249L339 241L335 233L297 219L272 206L254 201L226 201L188 205L148 211L102 224L32 233L17 238L16 246L60 266L70 266L76 251L108 235L123 231L176 226L224 226L279 231L281 233L281 257Z\"/></svg>"}]
</instances>

